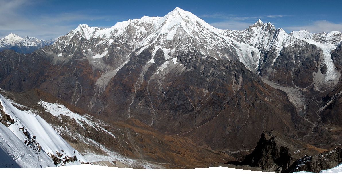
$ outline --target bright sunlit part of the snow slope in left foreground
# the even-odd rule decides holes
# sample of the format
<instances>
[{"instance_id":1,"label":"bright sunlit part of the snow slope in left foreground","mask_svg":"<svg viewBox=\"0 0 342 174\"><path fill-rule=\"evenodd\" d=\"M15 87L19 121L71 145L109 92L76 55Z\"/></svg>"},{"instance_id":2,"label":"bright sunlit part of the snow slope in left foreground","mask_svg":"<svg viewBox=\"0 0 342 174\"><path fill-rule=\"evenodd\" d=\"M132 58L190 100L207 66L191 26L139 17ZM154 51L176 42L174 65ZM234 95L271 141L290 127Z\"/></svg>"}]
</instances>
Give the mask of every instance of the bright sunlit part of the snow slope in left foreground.
<instances>
[{"instance_id":1,"label":"bright sunlit part of the snow slope in left foreground","mask_svg":"<svg viewBox=\"0 0 342 174\"><path fill-rule=\"evenodd\" d=\"M87 162L87 160L77 150L72 148L47 122L45 122L36 113L33 113L31 110L21 111L15 108L2 95L0 95L0 102L2 107L4 108L4 112L14 120L14 124L10 124L8 129L12 131L12 133L20 140L23 145L25 145L25 141L29 141L27 136L25 136L24 134L24 132L27 132L28 134L30 134L30 136L36 137L35 141L38 142L43 152L46 153L46 156L57 156L56 153L58 152L63 154L60 157L61 160L66 159L67 157L77 157L77 161L73 163L64 164L62 162L58 165L74 165L80 164L80 162ZM20 145L21 144L18 144L17 146L20 147ZM42 153L42 151L40 151L39 153Z\"/></svg>"}]
</instances>

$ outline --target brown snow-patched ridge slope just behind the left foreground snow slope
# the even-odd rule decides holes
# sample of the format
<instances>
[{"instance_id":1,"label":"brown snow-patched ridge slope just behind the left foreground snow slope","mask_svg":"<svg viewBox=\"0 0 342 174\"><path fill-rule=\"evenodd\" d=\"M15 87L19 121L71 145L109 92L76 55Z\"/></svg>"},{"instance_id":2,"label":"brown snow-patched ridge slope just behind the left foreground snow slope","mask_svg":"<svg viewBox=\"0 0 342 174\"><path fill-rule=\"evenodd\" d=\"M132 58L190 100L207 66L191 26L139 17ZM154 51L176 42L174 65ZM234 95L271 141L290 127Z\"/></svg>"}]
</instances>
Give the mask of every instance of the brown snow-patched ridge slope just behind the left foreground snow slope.
<instances>
[{"instance_id":1,"label":"brown snow-patched ridge slope just behind the left foreground snow slope","mask_svg":"<svg viewBox=\"0 0 342 174\"><path fill-rule=\"evenodd\" d=\"M82 124L78 123L79 120L70 119L65 115L61 115L59 119L51 115L38 102L42 100L63 104L70 111L81 115L85 115L86 112L66 102L60 102L60 99L41 90L21 93L2 91L1 93L12 98L16 103L27 106L17 106L20 109L35 109L44 120L61 133L70 145L84 154L94 153L106 156L109 150L118 152L119 156L154 163L162 168L201 168L235 160L226 153L197 147L186 137L160 133L136 119L104 122L88 115L86 117L88 121L83 121ZM98 125L93 127L89 120ZM88 142L88 138L105 148Z\"/></svg>"}]
</instances>

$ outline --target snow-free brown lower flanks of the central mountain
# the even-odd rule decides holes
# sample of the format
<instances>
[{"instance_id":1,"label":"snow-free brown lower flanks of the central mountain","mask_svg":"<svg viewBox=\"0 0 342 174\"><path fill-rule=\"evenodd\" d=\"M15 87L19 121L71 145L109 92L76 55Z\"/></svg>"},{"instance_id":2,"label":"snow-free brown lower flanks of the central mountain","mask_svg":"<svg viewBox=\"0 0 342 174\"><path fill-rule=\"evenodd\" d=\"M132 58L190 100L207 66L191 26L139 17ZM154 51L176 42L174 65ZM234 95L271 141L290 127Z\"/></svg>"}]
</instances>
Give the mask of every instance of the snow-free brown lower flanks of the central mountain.
<instances>
[{"instance_id":1,"label":"snow-free brown lower flanks of the central mountain","mask_svg":"<svg viewBox=\"0 0 342 174\"><path fill-rule=\"evenodd\" d=\"M1 87L11 91L38 88L96 117L108 121L135 118L160 132L187 136L215 150L251 149L265 130L294 138L311 131L311 124L298 116L284 92L265 84L238 61L180 53L180 62L159 69L157 65L167 63L164 54L158 50L151 64L151 52L147 49L132 56L100 93L95 82L102 71L86 58L74 56L61 62L41 50L28 55L5 51L2 63L13 67L1 69L8 74L0 79Z\"/></svg>"}]
</instances>

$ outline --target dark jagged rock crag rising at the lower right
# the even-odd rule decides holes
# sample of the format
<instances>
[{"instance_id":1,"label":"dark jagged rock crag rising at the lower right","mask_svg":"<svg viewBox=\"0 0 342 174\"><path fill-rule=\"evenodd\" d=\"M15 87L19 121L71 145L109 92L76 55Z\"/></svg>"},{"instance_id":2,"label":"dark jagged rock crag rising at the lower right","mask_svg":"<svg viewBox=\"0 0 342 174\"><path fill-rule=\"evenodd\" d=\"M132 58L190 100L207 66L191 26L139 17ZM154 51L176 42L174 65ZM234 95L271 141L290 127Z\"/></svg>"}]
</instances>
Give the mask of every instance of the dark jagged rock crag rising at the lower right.
<instances>
[{"instance_id":1,"label":"dark jagged rock crag rising at the lower right","mask_svg":"<svg viewBox=\"0 0 342 174\"><path fill-rule=\"evenodd\" d=\"M241 164L257 167L265 172L283 173L288 171L303 155L317 155L321 151L326 150L288 138L275 131L269 134L263 132L257 147L245 157Z\"/></svg>"}]
</instances>

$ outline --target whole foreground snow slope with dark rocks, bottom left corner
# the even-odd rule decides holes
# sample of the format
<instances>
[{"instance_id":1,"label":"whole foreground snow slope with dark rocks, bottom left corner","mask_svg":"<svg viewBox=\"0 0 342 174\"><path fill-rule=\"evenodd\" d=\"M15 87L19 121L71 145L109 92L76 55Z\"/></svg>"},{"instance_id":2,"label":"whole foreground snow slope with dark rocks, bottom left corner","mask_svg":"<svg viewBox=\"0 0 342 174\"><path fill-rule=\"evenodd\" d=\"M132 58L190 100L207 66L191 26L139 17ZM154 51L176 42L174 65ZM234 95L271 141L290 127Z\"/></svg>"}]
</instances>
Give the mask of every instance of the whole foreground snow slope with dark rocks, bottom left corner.
<instances>
[{"instance_id":1,"label":"whole foreground snow slope with dark rocks, bottom left corner","mask_svg":"<svg viewBox=\"0 0 342 174\"><path fill-rule=\"evenodd\" d=\"M7 158L1 159L1 166L36 168L87 162L37 113L17 109L2 95L0 104L0 150Z\"/></svg>"}]
</instances>

